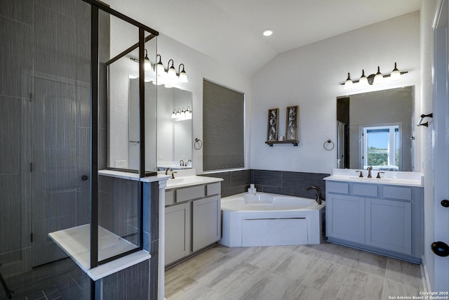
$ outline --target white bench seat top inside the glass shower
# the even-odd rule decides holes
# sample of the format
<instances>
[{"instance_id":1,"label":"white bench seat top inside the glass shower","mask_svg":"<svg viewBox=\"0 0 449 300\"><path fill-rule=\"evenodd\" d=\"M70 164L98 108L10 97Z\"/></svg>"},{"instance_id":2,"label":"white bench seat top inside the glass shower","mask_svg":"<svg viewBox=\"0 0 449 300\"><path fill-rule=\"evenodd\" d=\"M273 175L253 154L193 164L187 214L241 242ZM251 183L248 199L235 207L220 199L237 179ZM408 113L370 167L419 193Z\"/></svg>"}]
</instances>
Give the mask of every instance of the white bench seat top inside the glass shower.
<instances>
[{"instance_id":1,"label":"white bench seat top inside the glass shower","mask_svg":"<svg viewBox=\"0 0 449 300\"><path fill-rule=\"evenodd\" d=\"M133 254L115 259L109 263L102 264L97 268L91 269L91 225L85 224L65 230L48 233L48 236L58 246L64 250L67 255L72 257L74 262L87 273L93 280L98 280L119 270L133 266L151 255L145 251L135 252ZM98 260L102 261L109 257L121 254L137 248L135 244L124 240L122 237L98 226Z\"/></svg>"}]
</instances>

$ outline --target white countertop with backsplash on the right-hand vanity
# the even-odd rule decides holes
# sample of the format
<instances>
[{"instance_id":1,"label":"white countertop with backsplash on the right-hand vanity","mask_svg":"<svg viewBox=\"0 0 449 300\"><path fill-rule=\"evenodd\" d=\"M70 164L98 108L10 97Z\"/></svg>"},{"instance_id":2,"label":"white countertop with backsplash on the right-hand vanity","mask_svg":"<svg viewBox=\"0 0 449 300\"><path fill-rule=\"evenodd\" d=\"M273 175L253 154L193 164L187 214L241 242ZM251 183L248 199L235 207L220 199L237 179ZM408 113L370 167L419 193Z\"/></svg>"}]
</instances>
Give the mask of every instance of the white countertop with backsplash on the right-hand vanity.
<instances>
[{"instance_id":1,"label":"white countertop with backsplash on the right-hand vanity","mask_svg":"<svg viewBox=\"0 0 449 300\"><path fill-rule=\"evenodd\" d=\"M377 171L371 171L372 178L368 178L368 171L363 170L363 177L358 176L356 169L333 169L332 175L323 178L330 181L349 181L358 183L373 183L387 185L424 186L424 176L419 172L384 171L381 178L376 178Z\"/></svg>"}]
</instances>

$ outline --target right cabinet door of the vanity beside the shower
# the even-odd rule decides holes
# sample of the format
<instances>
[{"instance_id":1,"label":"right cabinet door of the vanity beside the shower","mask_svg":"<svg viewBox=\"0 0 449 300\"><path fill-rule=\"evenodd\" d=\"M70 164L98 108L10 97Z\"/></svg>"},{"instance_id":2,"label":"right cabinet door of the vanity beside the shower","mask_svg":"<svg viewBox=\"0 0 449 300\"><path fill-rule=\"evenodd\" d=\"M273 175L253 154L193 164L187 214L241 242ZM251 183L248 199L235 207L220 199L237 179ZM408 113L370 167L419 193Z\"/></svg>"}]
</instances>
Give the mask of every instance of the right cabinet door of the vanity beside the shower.
<instances>
[{"instance_id":1,"label":"right cabinet door of the vanity beside the shower","mask_svg":"<svg viewBox=\"0 0 449 300\"><path fill-rule=\"evenodd\" d=\"M193 201L192 214L194 252L220 240L220 195Z\"/></svg>"}]
</instances>

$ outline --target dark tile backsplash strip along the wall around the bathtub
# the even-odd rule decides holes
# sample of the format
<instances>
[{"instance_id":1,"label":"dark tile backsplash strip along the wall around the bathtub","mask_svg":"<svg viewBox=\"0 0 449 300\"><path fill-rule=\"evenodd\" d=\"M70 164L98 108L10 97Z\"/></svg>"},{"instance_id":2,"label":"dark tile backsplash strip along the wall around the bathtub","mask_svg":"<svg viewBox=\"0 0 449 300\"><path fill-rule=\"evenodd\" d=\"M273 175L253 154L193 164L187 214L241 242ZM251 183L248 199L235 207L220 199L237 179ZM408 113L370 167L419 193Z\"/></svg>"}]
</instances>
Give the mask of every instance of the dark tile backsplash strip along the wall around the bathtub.
<instances>
[{"instance_id":1,"label":"dark tile backsplash strip along the wall around the bathtub","mask_svg":"<svg viewBox=\"0 0 449 300\"><path fill-rule=\"evenodd\" d=\"M260 192L311 199L315 198L316 193L314 190L307 191L306 188L316 185L321 190L321 195L325 197L326 184L323 178L329 175L256 169L203 174L203 176L223 178L222 197L245 193L250 183L254 183L255 188Z\"/></svg>"}]
</instances>

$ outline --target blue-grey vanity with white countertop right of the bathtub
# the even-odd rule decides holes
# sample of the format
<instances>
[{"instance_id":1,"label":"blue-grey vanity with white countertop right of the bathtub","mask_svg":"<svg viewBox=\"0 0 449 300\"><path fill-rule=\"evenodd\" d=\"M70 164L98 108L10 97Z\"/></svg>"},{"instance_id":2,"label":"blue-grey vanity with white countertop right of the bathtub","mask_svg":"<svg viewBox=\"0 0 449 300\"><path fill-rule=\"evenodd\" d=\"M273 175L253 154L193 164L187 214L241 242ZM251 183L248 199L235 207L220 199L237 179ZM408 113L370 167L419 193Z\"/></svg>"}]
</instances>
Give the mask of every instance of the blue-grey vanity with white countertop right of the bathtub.
<instances>
[{"instance_id":1,"label":"blue-grey vanity with white countertop right of the bathtub","mask_svg":"<svg viewBox=\"0 0 449 300\"><path fill-rule=\"evenodd\" d=\"M326 236L377 254L421 263L424 253L423 178L416 172L386 171L363 178L334 169L326 180Z\"/></svg>"}]
</instances>

